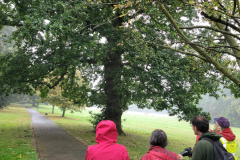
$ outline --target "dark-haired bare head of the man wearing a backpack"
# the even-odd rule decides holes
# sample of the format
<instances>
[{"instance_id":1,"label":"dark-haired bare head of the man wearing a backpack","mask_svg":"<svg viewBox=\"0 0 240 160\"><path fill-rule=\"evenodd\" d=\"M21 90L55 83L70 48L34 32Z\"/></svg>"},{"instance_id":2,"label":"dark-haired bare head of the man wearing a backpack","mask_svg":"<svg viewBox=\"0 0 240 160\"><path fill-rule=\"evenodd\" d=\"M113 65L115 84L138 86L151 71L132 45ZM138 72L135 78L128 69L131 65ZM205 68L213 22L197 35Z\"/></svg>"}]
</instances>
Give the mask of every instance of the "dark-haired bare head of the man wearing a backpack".
<instances>
[{"instance_id":1,"label":"dark-haired bare head of the man wearing a backpack","mask_svg":"<svg viewBox=\"0 0 240 160\"><path fill-rule=\"evenodd\" d=\"M206 133L209 130L209 122L205 117L195 116L192 118L191 123L196 135L197 132Z\"/></svg>"}]
</instances>

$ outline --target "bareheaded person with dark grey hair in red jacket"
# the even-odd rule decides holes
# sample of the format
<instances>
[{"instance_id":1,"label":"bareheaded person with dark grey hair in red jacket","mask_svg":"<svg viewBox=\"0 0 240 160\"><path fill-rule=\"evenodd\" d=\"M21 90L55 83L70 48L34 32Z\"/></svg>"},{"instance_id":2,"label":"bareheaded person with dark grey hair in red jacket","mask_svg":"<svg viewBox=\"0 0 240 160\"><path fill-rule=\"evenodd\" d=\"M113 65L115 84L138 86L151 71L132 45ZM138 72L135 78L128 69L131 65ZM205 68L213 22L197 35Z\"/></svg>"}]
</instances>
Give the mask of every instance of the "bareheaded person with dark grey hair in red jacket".
<instances>
[{"instance_id":1,"label":"bareheaded person with dark grey hair in red jacket","mask_svg":"<svg viewBox=\"0 0 240 160\"><path fill-rule=\"evenodd\" d=\"M140 160L177 160L178 157L180 160L183 159L182 155L165 149L168 142L167 135L163 130L154 130L149 142L150 149Z\"/></svg>"}]
</instances>

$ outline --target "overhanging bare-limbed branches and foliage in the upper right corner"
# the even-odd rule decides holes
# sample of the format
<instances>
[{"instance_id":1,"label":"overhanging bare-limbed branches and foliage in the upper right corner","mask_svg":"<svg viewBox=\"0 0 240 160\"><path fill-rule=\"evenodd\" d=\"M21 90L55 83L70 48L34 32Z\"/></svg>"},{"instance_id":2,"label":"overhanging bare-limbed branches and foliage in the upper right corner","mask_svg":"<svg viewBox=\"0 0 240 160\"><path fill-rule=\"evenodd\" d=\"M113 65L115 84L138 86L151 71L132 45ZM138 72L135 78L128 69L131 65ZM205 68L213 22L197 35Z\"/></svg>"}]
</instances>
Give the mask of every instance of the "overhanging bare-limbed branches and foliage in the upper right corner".
<instances>
[{"instance_id":1,"label":"overhanging bare-limbed branches and foliage in the upper right corner","mask_svg":"<svg viewBox=\"0 0 240 160\"><path fill-rule=\"evenodd\" d=\"M148 7L150 5L153 7ZM143 26L153 25L156 32L167 37L151 41L142 38L143 43L190 55L194 61L209 63L217 70L212 72L217 80L231 89L235 97L239 97L238 1L162 0L145 1L144 4L136 1L131 6L150 17L149 24ZM195 67L199 66L193 69Z\"/></svg>"}]
</instances>

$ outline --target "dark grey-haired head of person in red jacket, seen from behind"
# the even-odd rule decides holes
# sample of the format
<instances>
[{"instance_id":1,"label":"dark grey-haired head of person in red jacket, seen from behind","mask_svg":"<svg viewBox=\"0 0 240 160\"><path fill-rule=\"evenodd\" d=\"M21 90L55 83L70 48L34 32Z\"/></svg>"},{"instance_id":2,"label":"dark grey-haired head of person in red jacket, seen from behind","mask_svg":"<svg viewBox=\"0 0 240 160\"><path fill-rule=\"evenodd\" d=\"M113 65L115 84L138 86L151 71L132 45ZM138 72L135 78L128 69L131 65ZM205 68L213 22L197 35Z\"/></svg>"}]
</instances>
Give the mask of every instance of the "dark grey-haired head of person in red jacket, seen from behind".
<instances>
[{"instance_id":1,"label":"dark grey-haired head of person in red jacket, seen from behind","mask_svg":"<svg viewBox=\"0 0 240 160\"><path fill-rule=\"evenodd\" d=\"M166 133L163 130L155 129L152 132L149 143L150 147L160 146L162 148L165 148L168 144Z\"/></svg>"}]
</instances>

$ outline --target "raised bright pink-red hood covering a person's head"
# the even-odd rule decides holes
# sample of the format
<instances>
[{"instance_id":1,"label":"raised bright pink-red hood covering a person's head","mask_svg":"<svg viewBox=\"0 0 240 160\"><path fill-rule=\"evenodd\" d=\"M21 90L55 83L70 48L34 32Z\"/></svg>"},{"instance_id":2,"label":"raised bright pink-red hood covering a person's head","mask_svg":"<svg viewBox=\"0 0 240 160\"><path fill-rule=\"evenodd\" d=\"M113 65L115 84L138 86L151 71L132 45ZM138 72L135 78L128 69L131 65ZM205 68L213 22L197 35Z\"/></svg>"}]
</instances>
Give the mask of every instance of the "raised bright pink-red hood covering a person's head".
<instances>
[{"instance_id":1,"label":"raised bright pink-red hood covering a person's head","mask_svg":"<svg viewBox=\"0 0 240 160\"><path fill-rule=\"evenodd\" d=\"M117 128L116 124L110 120L101 121L96 128L96 138L97 143L101 142L113 142L117 141Z\"/></svg>"}]
</instances>

